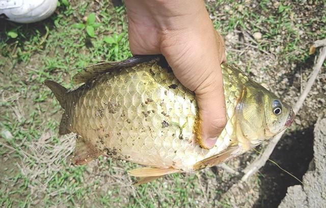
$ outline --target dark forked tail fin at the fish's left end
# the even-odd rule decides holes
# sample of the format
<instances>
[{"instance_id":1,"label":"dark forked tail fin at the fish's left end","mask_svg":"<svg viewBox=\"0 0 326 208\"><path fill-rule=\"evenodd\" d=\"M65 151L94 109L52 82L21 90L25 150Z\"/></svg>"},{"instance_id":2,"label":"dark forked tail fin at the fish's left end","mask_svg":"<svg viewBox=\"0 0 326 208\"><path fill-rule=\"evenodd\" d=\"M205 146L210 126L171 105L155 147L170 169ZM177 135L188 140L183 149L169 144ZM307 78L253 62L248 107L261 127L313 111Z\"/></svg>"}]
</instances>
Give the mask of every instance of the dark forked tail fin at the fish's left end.
<instances>
[{"instance_id":1,"label":"dark forked tail fin at the fish's left end","mask_svg":"<svg viewBox=\"0 0 326 208\"><path fill-rule=\"evenodd\" d=\"M66 95L67 95L67 89L64 88L63 86L61 86L60 84L50 81L50 80L46 80L44 82L44 84L50 88L50 90L53 92L53 94L55 94L56 98L58 99L60 106L65 109L66 108ZM62 119L60 122L60 127L59 127L59 134L60 135L65 135L65 134L69 134L71 131L67 128L69 124L69 117L67 115L67 113L65 112L62 115Z\"/></svg>"}]
</instances>

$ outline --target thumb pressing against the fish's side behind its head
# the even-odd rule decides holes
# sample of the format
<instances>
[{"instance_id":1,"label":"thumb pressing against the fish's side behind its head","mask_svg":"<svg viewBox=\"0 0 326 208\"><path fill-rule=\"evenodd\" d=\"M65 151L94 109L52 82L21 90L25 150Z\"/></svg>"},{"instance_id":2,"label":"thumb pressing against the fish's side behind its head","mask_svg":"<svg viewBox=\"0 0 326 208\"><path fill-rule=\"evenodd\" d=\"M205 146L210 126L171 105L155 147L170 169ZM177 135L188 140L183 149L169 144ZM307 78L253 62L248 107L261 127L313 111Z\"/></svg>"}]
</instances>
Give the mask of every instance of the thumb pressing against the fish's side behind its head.
<instances>
[{"instance_id":1,"label":"thumb pressing against the fish's side behind its head","mask_svg":"<svg viewBox=\"0 0 326 208\"><path fill-rule=\"evenodd\" d=\"M205 149L215 145L227 122L221 67L209 77L210 80L195 90L200 119L196 127L197 142Z\"/></svg>"}]
</instances>

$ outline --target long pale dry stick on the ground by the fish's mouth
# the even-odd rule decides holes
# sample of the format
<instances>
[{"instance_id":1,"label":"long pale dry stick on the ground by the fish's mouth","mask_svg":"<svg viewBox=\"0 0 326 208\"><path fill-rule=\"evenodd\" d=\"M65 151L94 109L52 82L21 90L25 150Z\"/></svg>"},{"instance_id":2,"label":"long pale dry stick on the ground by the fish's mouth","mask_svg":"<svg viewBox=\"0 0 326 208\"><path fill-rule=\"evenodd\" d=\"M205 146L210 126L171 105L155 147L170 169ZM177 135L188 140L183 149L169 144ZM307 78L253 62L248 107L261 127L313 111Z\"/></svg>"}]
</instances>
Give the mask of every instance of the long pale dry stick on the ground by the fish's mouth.
<instances>
[{"instance_id":1,"label":"long pale dry stick on the ground by the fish's mouth","mask_svg":"<svg viewBox=\"0 0 326 208\"><path fill-rule=\"evenodd\" d=\"M321 66L326 58L326 39L319 40L315 42L315 45L323 45L323 47L320 50L319 57L317 59L317 62L313 66L313 71L311 72L310 78L307 82L307 85L304 89L304 91L301 93L300 97L298 98L297 102L295 103L295 106L293 108L294 113L297 113L300 108L303 105L304 100L306 99L309 91L312 88L312 85L314 84L316 77L318 75L318 72L321 69ZM268 160L271 152L273 152L276 144L281 139L282 135L285 131L281 132L277 136L275 136L273 139L270 140L269 144L267 145L264 152L260 155L260 157L256 158L256 160L247 166L242 172L245 174L242 176L241 180L246 181L249 177L251 177L253 174L255 174L261 167L263 167L266 164L266 161Z\"/></svg>"}]
</instances>

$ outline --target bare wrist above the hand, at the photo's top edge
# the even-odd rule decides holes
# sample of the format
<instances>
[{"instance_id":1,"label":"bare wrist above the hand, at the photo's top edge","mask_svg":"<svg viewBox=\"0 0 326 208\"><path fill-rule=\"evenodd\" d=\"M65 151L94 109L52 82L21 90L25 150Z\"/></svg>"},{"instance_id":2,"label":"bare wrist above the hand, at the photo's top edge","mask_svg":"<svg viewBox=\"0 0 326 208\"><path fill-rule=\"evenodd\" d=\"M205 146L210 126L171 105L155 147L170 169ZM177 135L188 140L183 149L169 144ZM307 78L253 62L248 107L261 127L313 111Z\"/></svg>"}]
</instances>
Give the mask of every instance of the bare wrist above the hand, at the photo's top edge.
<instances>
[{"instance_id":1,"label":"bare wrist above the hand, at the photo's top edge","mask_svg":"<svg viewBox=\"0 0 326 208\"><path fill-rule=\"evenodd\" d=\"M150 22L158 31L199 27L209 19L202 0L125 0L125 5L129 18Z\"/></svg>"}]
</instances>

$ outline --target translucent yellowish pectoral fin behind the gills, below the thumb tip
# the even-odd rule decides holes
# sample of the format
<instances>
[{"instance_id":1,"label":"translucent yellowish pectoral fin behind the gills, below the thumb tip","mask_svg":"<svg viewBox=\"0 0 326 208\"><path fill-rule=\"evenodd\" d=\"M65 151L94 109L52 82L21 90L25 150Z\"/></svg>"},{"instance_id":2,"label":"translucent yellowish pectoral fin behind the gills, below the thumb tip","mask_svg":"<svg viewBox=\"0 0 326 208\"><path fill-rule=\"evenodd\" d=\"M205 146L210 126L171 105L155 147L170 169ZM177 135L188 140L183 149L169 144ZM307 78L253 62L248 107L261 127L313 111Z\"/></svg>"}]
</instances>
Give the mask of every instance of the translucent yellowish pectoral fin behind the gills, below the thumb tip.
<instances>
[{"instance_id":1,"label":"translucent yellowish pectoral fin behind the gills, below the thumb tip","mask_svg":"<svg viewBox=\"0 0 326 208\"><path fill-rule=\"evenodd\" d=\"M194 165L194 169L201 170L201 169L204 169L207 167L212 167L212 166L218 165L220 163L224 163L227 160L229 160L237 155L236 152L237 152L238 147L239 147L238 145L230 146L220 154L216 154L216 155L213 155L213 156L206 158L202 161L199 161L198 163L196 163Z\"/></svg>"}]
</instances>

